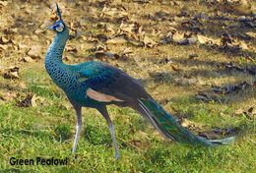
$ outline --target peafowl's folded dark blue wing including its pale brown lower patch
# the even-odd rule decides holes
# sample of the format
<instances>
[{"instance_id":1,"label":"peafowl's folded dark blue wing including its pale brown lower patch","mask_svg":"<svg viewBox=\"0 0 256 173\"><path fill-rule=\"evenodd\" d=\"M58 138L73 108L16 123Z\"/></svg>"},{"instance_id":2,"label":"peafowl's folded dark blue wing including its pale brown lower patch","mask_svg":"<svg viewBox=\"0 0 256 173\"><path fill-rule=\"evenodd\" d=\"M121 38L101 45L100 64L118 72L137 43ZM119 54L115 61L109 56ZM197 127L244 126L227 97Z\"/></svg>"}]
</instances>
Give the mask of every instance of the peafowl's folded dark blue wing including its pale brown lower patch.
<instances>
[{"instance_id":1,"label":"peafowl's folded dark blue wing including its pale brown lower patch","mask_svg":"<svg viewBox=\"0 0 256 173\"><path fill-rule=\"evenodd\" d=\"M78 80L90 89L89 96L93 99L107 99L118 101L133 101L138 98L147 98L149 94L142 85L123 71L95 62L79 72ZM99 98L100 97L100 98Z\"/></svg>"}]
</instances>

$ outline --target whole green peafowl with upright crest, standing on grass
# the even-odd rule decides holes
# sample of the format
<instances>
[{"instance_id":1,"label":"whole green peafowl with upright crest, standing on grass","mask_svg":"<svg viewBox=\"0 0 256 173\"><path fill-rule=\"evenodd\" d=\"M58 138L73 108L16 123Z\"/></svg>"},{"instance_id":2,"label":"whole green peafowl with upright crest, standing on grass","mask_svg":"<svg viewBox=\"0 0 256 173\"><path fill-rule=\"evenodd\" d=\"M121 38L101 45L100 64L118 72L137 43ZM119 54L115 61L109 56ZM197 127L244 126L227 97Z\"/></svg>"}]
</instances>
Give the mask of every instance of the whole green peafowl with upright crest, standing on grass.
<instances>
[{"instance_id":1,"label":"whole green peafowl with upright crest, standing on grass","mask_svg":"<svg viewBox=\"0 0 256 173\"><path fill-rule=\"evenodd\" d=\"M66 65L62 54L69 37L69 29L61 18L57 6L59 21L49 26L57 35L45 55L45 68L52 81L64 90L74 106L77 115L76 137L72 152L76 152L79 134L82 129L82 107L96 108L105 118L114 144L115 157L119 158L114 126L107 113L106 105L129 106L148 119L165 139L179 144L214 146L229 144L234 138L224 140L203 140L182 126L153 99L145 88L123 71L100 62L87 62L78 65Z\"/></svg>"}]
</instances>

